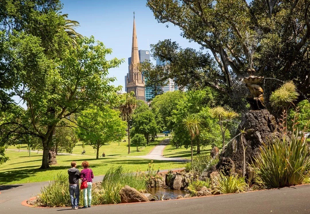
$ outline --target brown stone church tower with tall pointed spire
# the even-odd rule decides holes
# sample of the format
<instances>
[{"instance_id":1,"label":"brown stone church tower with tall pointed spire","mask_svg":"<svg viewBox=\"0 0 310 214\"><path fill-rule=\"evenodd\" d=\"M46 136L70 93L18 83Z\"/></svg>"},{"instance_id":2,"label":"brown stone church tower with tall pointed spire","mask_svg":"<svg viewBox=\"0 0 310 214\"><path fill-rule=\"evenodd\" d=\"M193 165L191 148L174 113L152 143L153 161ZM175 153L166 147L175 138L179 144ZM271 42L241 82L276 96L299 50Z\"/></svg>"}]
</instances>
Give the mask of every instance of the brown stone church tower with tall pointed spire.
<instances>
[{"instance_id":1,"label":"brown stone church tower with tall pointed spire","mask_svg":"<svg viewBox=\"0 0 310 214\"><path fill-rule=\"evenodd\" d=\"M131 47L131 63L129 65L129 73L127 75L127 93L131 91L135 92L135 97L137 100L145 101L145 82L144 77L138 69L139 51L138 51L138 41L137 33L135 29L135 15L134 15L134 26L132 32L132 47Z\"/></svg>"}]
</instances>

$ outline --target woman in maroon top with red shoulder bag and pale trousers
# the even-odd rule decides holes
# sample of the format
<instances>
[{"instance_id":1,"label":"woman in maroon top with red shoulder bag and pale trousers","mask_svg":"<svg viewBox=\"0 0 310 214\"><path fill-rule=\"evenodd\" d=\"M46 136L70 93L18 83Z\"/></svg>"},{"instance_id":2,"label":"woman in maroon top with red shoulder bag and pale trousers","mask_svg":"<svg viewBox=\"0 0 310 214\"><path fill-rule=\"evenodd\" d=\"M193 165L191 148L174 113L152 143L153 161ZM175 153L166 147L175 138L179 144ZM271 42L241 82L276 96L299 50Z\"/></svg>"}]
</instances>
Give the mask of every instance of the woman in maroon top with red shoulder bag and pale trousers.
<instances>
[{"instance_id":1,"label":"woman in maroon top with red shoulder bag and pale trousers","mask_svg":"<svg viewBox=\"0 0 310 214\"><path fill-rule=\"evenodd\" d=\"M81 180L82 182L85 182L85 181L87 182L87 187L83 189L83 196L84 196L84 207L83 208L87 208L87 207L91 207L91 185L93 182L92 179L94 178L94 174L93 174L93 171L90 168L88 168L89 163L87 161L83 161L82 167L84 167L84 169L82 169L81 171Z\"/></svg>"}]
</instances>

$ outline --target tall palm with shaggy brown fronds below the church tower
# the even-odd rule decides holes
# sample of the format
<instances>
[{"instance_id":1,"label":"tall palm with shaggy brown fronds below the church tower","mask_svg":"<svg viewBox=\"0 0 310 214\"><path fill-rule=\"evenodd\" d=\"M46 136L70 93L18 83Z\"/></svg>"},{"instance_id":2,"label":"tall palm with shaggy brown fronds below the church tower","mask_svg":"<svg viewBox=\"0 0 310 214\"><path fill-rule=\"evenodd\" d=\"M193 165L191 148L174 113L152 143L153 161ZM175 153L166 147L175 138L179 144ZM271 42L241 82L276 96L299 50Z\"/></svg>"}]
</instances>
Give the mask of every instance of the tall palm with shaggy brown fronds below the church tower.
<instances>
[{"instance_id":1,"label":"tall palm with shaggy brown fronds below the church tower","mask_svg":"<svg viewBox=\"0 0 310 214\"><path fill-rule=\"evenodd\" d=\"M131 93L124 94L126 101L123 105L119 107L119 110L121 111L121 118L124 121L127 121L127 130L128 130L128 154L130 154L130 126L129 121L132 118L132 114L135 110L135 107L137 105L137 100L134 96L134 93L131 91Z\"/></svg>"}]
</instances>

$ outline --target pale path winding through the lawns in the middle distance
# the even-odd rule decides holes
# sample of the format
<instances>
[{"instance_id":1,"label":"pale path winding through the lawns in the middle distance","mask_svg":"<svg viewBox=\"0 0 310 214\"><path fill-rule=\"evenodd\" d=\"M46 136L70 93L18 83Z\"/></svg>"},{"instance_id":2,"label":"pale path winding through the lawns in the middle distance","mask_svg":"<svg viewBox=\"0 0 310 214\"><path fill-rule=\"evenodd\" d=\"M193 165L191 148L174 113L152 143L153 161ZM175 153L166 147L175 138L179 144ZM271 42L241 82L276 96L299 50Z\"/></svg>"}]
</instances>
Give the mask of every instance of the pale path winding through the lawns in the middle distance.
<instances>
[{"instance_id":1,"label":"pale path winding through the lawns in the middle distance","mask_svg":"<svg viewBox=\"0 0 310 214\"><path fill-rule=\"evenodd\" d=\"M131 158L144 158L144 159L151 159L151 160L164 160L164 161L174 161L174 162L188 161L188 159L164 157L162 154L164 152L165 147L168 145L168 143L169 143L169 139L162 140L147 155L131 156Z\"/></svg>"}]
</instances>

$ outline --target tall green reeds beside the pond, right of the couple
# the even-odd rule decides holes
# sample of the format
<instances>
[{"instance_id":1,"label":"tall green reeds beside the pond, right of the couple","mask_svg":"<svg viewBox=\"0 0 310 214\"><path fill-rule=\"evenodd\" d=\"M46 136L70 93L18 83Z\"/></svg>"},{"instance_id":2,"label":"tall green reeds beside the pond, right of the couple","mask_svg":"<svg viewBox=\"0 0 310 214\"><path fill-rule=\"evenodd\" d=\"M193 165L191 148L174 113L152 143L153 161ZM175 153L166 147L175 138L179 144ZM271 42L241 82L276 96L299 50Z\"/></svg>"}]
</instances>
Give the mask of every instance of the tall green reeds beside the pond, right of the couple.
<instances>
[{"instance_id":1,"label":"tall green reeds beside the pond, right of the couple","mask_svg":"<svg viewBox=\"0 0 310 214\"><path fill-rule=\"evenodd\" d=\"M102 180L103 204L121 203L119 191L125 185L138 191L144 191L147 188L144 176L139 176L133 172L125 172L122 166L111 167Z\"/></svg>"}]
</instances>

